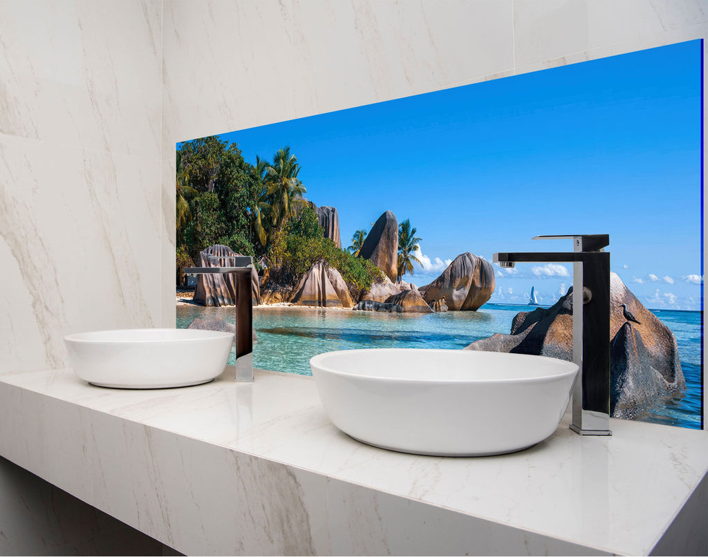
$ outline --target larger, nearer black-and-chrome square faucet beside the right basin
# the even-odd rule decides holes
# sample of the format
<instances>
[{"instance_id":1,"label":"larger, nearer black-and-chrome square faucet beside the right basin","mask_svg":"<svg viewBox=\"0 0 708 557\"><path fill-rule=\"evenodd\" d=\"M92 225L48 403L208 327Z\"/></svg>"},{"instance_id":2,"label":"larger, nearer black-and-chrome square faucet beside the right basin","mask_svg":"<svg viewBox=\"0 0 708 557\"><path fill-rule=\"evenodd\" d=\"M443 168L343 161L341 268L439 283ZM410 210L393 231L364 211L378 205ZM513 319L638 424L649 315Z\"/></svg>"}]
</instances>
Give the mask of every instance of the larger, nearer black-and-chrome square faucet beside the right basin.
<instances>
[{"instance_id":1,"label":"larger, nearer black-and-chrome square faucet beside the right basin","mask_svg":"<svg viewBox=\"0 0 708 557\"><path fill-rule=\"evenodd\" d=\"M580 435L610 432L610 244L609 234L535 236L572 239L567 253L495 253L494 263L573 263L573 362L581 375L573 388L571 430Z\"/></svg>"}]
</instances>

